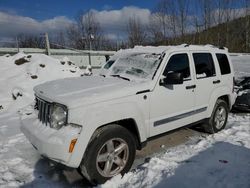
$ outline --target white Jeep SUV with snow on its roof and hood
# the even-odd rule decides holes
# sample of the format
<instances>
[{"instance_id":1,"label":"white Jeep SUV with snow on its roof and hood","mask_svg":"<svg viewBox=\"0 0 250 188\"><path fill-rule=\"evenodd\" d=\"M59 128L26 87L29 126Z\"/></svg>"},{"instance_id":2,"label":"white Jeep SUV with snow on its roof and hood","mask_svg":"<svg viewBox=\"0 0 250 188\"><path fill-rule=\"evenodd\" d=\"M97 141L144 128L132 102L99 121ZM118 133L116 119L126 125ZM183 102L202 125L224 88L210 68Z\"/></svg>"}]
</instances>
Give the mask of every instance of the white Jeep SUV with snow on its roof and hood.
<instances>
[{"instance_id":1,"label":"white Jeep SUV with snow on its roof and hood","mask_svg":"<svg viewBox=\"0 0 250 188\"><path fill-rule=\"evenodd\" d=\"M118 52L108 69L36 86L34 111L22 117L41 155L79 168L92 183L128 172L151 137L196 123L209 133L226 125L235 99L227 49L137 47Z\"/></svg>"}]
</instances>

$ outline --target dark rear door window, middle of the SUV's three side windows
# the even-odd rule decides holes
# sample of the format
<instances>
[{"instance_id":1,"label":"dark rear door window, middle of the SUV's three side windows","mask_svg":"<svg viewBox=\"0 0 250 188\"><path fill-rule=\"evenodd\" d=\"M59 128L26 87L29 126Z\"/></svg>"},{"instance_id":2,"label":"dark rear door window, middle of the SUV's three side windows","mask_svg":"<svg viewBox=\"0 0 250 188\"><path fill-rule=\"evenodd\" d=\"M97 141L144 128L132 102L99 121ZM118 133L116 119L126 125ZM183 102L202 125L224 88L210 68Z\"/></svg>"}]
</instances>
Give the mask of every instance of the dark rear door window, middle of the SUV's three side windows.
<instances>
[{"instance_id":1,"label":"dark rear door window, middle of the SUV's three side windows","mask_svg":"<svg viewBox=\"0 0 250 188\"><path fill-rule=\"evenodd\" d=\"M196 78L215 76L213 57L210 53L193 53Z\"/></svg>"}]
</instances>

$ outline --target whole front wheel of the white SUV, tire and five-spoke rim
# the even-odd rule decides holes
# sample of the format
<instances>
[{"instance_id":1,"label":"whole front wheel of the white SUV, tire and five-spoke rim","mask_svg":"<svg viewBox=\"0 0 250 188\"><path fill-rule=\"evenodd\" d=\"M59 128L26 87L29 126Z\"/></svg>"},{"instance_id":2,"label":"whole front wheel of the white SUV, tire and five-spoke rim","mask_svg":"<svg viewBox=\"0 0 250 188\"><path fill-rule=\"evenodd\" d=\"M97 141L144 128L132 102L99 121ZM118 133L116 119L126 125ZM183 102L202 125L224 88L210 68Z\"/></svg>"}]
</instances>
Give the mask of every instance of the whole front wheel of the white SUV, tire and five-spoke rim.
<instances>
[{"instance_id":1,"label":"whole front wheel of the white SUV, tire and five-spoke rim","mask_svg":"<svg viewBox=\"0 0 250 188\"><path fill-rule=\"evenodd\" d=\"M92 136L78 171L93 185L124 175L134 162L136 143L126 128L111 124Z\"/></svg>"}]
</instances>

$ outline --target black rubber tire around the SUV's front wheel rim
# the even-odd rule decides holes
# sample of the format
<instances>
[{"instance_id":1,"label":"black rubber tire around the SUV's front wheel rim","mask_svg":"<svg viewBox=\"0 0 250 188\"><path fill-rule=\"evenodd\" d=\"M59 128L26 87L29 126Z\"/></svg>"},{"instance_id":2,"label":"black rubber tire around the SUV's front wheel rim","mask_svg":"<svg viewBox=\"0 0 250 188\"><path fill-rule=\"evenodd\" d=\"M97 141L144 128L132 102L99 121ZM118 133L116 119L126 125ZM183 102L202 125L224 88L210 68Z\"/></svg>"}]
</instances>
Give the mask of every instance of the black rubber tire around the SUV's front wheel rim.
<instances>
[{"instance_id":1,"label":"black rubber tire around the SUV's front wheel rim","mask_svg":"<svg viewBox=\"0 0 250 188\"><path fill-rule=\"evenodd\" d=\"M117 175L117 174L114 174L112 177L105 177L104 175L101 174L101 170L98 165L99 163L97 164L97 157L101 155L100 152L102 150L107 149L107 153L108 153L108 148L107 148L108 144L105 145L106 143L108 143L111 140L111 142L114 144L114 148L117 148L115 147L116 139L121 140L122 144L127 144L128 146L126 147L127 152L125 152L124 150L124 153L121 153L122 155L125 155L126 153L126 156L127 156L125 157L127 159L126 163L122 168L120 168L117 165L117 168L119 168L120 170L122 169L117 174L124 175L126 172L130 170L134 162L135 152L136 152L136 143L135 143L135 138L133 134L130 133L126 128L120 125L110 124L110 125L104 126L98 129L92 136L91 141L88 144L87 150L85 151L85 155L78 169L80 174L83 175L85 178L87 178L91 184L97 185L97 184L105 183L107 180ZM115 153L115 150L113 153ZM107 159L107 160L114 161L115 158ZM106 162L104 163L105 163L104 164L105 166ZM116 165L115 162L113 162L112 165Z\"/></svg>"}]
</instances>

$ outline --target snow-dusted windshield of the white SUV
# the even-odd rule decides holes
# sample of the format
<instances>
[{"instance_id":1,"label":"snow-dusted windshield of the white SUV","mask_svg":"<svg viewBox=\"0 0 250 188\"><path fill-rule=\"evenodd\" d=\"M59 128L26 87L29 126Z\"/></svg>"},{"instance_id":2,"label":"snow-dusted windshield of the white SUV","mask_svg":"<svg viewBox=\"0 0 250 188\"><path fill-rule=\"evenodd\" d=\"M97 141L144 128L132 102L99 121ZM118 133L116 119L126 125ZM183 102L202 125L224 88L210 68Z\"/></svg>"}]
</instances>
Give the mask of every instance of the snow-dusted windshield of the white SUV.
<instances>
[{"instance_id":1,"label":"snow-dusted windshield of the white SUV","mask_svg":"<svg viewBox=\"0 0 250 188\"><path fill-rule=\"evenodd\" d=\"M118 58L111 66L109 75L129 80L152 79L161 57L161 54L140 53Z\"/></svg>"}]
</instances>

